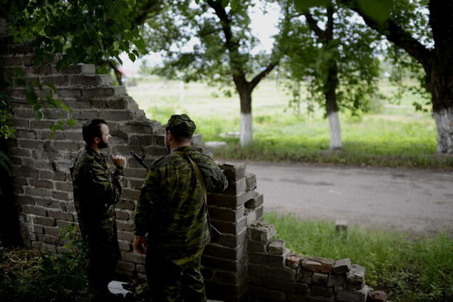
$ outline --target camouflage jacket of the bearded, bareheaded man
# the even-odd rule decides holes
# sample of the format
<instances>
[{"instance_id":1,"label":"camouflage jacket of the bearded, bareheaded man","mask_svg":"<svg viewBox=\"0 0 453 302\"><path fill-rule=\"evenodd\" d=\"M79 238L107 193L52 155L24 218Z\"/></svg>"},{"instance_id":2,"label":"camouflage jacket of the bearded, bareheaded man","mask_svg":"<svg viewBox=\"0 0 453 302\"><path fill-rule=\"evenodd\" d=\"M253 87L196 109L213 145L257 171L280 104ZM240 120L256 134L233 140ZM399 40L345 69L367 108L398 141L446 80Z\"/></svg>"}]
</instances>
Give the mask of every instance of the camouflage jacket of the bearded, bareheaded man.
<instances>
[{"instance_id":1,"label":"camouflage jacket of the bearded, bareheaded man","mask_svg":"<svg viewBox=\"0 0 453 302\"><path fill-rule=\"evenodd\" d=\"M105 156L88 146L78 151L73 167L74 204L83 238L116 238L115 203L120 201L124 167L112 173Z\"/></svg>"}]
</instances>

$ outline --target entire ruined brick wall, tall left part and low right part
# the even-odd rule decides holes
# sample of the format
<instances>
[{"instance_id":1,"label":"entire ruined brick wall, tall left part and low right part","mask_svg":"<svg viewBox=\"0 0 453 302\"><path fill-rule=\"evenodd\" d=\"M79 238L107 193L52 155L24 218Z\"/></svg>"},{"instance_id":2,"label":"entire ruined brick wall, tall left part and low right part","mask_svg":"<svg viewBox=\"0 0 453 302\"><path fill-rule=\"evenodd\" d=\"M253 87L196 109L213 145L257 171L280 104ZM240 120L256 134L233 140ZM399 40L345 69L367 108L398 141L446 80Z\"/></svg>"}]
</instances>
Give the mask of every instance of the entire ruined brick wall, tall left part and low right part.
<instances>
[{"instance_id":1,"label":"entire ruined brick wall, tall left part and low right part","mask_svg":"<svg viewBox=\"0 0 453 302\"><path fill-rule=\"evenodd\" d=\"M4 22L0 20L1 32L4 33ZM81 125L91 118L103 118L113 135L111 152L127 157L123 194L116 207L123 256L118 272L145 278L144 256L132 251L131 232L145 170L129 152L145 154L148 162L165 155L160 123L147 120L125 88L110 86L110 75L95 74L93 65L78 64L61 71L56 71L54 64L36 68L31 48L14 44L0 49L0 60L6 68L22 68L42 83L53 82L58 88L55 96L73 112L51 113L77 120L77 125L66 127L51 140L48 127L56 121L34 119L36 113L20 104L25 102L23 87L14 85L7 91L18 103L14 118L17 132L9 140L9 156L14 163L12 180L24 241L53 252L62 249L58 231L68 224L77 224L68 167L84 145ZM201 135L195 136L194 142L201 144ZM208 203L212 223L223 235L207 246L202 258L209 298L365 301L369 288L364 285L361 266L345 259L304 259L292 254L283 241L273 239L274 227L263 222L263 195L255 191L255 175L247 173L243 164L224 163L221 167L229 187L222 194L209 194Z\"/></svg>"}]
</instances>

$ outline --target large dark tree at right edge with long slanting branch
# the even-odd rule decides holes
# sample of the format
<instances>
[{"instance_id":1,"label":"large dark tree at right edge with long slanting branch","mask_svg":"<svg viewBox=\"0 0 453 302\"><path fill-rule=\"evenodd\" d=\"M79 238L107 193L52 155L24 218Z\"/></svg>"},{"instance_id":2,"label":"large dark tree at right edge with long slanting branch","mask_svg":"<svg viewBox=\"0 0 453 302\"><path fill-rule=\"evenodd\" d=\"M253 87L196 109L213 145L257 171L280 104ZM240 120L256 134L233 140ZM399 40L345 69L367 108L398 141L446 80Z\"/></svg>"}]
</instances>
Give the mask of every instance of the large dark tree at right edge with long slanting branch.
<instances>
[{"instance_id":1,"label":"large dark tree at right edge with long slanting branch","mask_svg":"<svg viewBox=\"0 0 453 302\"><path fill-rule=\"evenodd\" d=\"M437 127L437 152L453 154L453 2L449 0L394 1L390 17L370 18L358 0L340 0L363 17L365 23L385 36L410 57L399 58L418 75L431 95ZM401 61L404 60L404 61Z\"/></svg>"}]
</instances>

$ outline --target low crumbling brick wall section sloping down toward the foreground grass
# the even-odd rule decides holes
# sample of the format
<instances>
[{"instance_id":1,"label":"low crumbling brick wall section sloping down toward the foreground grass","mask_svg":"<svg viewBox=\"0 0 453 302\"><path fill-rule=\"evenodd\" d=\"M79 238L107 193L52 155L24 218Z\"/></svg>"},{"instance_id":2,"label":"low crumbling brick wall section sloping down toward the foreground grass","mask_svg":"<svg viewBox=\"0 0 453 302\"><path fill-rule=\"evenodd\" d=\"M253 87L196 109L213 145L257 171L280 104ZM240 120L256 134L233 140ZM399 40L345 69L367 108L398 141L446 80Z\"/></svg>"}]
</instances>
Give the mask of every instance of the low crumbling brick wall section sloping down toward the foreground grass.
<instances>
[{"instance_id":1,"label":"low crumbling brick wall section sloping down toward the foreground grass","mask_svg":"<svg viewBox=\"0 0 453 302\"><path fill-rule=\"evenodd\" d=\"M385 302L382 291L370 291L365 268L350 259L306 257L274 239L272 224L249 227L247 282L250 301Z\"/></svg>"}]
</instances>

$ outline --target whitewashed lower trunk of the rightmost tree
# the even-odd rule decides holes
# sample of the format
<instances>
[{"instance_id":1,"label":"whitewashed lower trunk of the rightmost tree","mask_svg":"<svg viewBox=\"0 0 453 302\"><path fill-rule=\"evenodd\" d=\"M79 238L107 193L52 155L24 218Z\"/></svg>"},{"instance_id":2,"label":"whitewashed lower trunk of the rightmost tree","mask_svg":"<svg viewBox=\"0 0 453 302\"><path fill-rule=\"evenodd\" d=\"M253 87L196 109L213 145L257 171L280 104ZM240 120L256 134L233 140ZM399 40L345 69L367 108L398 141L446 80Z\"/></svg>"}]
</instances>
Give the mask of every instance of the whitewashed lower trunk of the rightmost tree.
<instances>
[{"instance_id":1,"label":"whitewashed lower trunk of the rightmost tree","mask_svg":"<svg viewBox=\"0 0 453 302\"><path fill-rule=\"evenodd\" d=\"M434 111L437 127L437 153L453 154L453 108Z\"/></svg>"}]
</instances>

